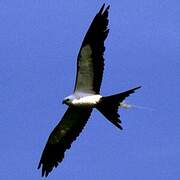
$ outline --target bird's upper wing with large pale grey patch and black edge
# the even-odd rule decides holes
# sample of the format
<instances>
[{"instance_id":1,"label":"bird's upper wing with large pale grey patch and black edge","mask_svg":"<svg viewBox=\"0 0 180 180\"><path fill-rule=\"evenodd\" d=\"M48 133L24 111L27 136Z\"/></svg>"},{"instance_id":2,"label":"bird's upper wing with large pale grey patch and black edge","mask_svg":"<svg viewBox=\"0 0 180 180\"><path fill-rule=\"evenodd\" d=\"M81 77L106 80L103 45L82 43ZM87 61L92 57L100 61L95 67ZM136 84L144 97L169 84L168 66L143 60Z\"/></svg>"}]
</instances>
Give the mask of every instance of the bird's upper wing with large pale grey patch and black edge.
<instances>
[{"instance_id":1,"label":"bird's upper wing with large pale grey patch and black edge","mask_svg":"<svg viewBox=\"0 0 180 180\"><path fill-rule=\"evenodd\" d=\"M74 92L99 94L104 69L104 41L109 32L109 6L105 10L104 6L94 17L81 45Z\"/></svg>"}]
</instances>

